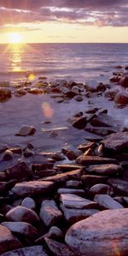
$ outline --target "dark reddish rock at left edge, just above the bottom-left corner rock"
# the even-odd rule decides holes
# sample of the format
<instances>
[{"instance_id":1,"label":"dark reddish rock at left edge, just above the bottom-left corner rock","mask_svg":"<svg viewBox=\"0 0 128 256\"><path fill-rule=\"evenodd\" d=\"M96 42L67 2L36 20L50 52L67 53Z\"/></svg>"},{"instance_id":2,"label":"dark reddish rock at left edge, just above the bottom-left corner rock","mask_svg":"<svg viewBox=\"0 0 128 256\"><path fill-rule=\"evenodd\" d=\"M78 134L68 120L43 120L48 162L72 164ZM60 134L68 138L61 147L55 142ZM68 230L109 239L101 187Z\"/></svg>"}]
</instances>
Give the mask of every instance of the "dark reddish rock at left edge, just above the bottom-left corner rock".
<instances>
[{"instance_id":1,"label":"dark reddish rock at left edge, just above the bottom-left corner rock","mask_svg":"<svg viewBox=\"0 0 128 256\"><path fill-rule=\"evenodd\" d=\"M11 234L10 230L0 225L0 253L22 247L20 241Z\"/></svg>"}]
</instances>

